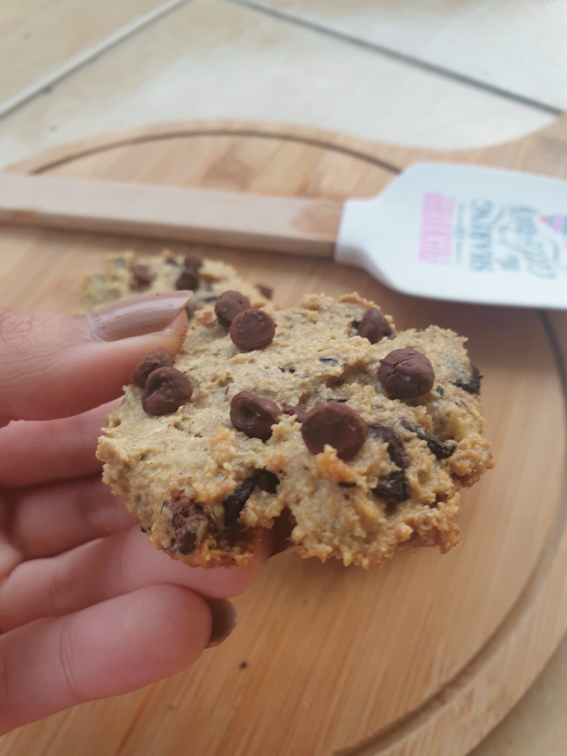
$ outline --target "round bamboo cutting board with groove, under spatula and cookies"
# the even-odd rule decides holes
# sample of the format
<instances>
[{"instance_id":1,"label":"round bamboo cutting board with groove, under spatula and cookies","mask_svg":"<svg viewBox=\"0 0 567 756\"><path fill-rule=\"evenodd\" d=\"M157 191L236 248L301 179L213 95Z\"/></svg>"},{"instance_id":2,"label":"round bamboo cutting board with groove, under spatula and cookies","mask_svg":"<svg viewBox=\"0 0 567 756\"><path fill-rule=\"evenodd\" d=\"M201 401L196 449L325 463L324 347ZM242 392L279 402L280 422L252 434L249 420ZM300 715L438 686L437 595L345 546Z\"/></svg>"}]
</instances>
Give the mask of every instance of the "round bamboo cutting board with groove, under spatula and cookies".
<instances>
[{"instance_id":1,"label":"round bamboo cutting board with groove, under spatula and cookies","mask_svg":"<svg viewBox=\"0 0 567 756\"><path fill-rule=\"evenodd\" d=\"M567 119L515 144L435 155L311 129L240 122L151 127L66 146L13 170L259 194L376 194L417 158L567 176ZM3 228L0 304L74 311L109 251L160 244ZM173 249L184 249L173 246ZM562 343L567 321L451 305L387 290L307 257L211 250L244 277L302 294L358 290L399 327L469 336L497 467L463 495L463 544L402 553L381 571L295 554L268 563L236 600L230 639L194 667L118 699L11 733L26 756L460 756L522 696L567 626Z\"/></svg>"}]
</instances>

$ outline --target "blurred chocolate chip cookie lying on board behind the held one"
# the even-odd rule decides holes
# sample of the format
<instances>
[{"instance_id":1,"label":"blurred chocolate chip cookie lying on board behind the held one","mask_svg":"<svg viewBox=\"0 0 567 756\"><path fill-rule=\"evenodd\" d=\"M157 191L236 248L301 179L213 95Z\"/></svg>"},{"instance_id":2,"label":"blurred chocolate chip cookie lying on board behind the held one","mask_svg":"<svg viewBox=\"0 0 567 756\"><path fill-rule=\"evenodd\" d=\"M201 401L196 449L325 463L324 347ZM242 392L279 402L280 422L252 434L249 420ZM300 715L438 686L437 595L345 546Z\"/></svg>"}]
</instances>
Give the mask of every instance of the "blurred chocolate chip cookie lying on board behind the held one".
<instances>
[{"instance_id":1,"label":"blurred chocolate chip cookie lying on board behind the held one","mask_svg":"<svg viewBox=\"0 0 567 756\"><path fill-rule=\"evenodd\" d=\"M262 307L271 299L272 293L269 287L260 283L257 286L246 283L226 262L194 255L174 255L164 249L161 255L154 256L137 258L131 251L108 256L103 270L83 281L82 303L88 311L115 299L175 289L194 292L187 311L189 315L214 304L225 292L239 293L243 297L241 305L247 307Z\"/></svg>"}]
</instances>

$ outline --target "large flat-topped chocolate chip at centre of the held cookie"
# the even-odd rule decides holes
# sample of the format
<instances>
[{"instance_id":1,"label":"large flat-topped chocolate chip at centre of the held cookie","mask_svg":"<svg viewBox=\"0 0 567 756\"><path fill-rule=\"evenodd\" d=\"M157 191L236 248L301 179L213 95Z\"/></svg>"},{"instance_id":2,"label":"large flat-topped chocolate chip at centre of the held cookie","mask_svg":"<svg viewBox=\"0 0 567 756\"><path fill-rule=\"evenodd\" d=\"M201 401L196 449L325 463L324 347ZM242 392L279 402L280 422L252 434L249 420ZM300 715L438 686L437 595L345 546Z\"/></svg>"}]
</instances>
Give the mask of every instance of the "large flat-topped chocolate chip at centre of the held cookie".
<instances>
[{"instance_id":1,"label":"large flat-topped chocolate chip at centre of the held cookie","mask_svg":"<svg viewBox=\"0 0 567 756\"><path fill-rule=\"evenodd\" d=\"M319 454L325 444L336 449L342 460L352 460L367 439L366 423L346 404L325 401L316 404L302 422L301 435L311 454Z\"/></svg>"}]
</instances>

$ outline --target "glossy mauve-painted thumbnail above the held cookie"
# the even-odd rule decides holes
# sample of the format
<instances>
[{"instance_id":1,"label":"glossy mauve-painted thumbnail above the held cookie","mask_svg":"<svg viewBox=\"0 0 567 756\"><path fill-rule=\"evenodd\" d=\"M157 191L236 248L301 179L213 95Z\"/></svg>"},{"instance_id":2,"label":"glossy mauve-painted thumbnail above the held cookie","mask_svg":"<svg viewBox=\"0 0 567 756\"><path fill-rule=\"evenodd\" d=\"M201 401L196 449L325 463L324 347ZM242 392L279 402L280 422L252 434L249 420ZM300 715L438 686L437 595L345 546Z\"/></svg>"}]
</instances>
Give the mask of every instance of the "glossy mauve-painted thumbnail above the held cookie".
<instances>
[{"instance_id":1,"label":"glossy mauve-painted thumbnail above the held cookie","mask_svg":"<svg viewBox=\"0 0 567 756\"><path fill-rule=\"evenodd\" d=\"M119 341L155 333L168 326L191 300L191 291L165 291L120 299L87 314L92 333L102 341Z\"/></svg>"}]
</instances>

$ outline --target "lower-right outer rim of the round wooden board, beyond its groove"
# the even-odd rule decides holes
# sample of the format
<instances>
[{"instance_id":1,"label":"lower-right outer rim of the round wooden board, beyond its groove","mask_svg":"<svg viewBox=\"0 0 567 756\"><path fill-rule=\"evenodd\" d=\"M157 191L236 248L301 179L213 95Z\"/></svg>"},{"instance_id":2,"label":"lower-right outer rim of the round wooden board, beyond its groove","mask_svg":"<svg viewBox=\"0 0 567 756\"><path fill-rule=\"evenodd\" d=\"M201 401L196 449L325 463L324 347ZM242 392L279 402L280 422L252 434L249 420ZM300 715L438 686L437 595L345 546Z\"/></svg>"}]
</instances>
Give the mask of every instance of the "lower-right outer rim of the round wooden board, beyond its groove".
<instances>
[{"instance_id":1,"label":"lower-right outer rim of the round wooden board, beyond its groove","mask_svg":"<svg viewBox=\"0 0 567 756\"><path fill-rule=\"evenodd\" d=\"M567 352L547 314L540 315L561 379L567 424ZM556 516L540 559L494 634L435 696L334 756L465 756L522 699L567 632L567 448L564 456Z\"/></svg>"}]
</instances>

